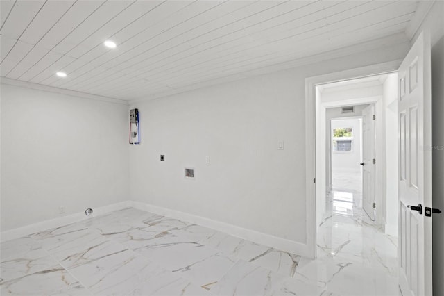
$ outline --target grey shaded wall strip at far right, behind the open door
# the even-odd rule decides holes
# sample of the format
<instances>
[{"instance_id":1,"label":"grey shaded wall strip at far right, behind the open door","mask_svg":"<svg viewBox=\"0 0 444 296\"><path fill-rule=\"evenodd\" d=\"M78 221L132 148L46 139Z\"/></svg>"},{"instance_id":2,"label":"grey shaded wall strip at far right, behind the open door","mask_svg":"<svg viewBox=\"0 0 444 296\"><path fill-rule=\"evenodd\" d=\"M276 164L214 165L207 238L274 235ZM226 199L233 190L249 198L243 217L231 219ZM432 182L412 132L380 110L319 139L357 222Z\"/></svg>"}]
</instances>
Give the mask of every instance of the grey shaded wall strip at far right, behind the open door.
<instances>
[{"instance_id":1,"label":"grey shaded wall strip at far right, behind the open door","mask_svg":"<svg viewBox=\"0 0 444 296\"><path fill-rule=\"evenodd\" d=\"M416 33L431 34L432 45L432 205L444 211L444 2L436 1ZM444 295L444 214L433 215L433 292Z\"/></svg>"}]
</instances>

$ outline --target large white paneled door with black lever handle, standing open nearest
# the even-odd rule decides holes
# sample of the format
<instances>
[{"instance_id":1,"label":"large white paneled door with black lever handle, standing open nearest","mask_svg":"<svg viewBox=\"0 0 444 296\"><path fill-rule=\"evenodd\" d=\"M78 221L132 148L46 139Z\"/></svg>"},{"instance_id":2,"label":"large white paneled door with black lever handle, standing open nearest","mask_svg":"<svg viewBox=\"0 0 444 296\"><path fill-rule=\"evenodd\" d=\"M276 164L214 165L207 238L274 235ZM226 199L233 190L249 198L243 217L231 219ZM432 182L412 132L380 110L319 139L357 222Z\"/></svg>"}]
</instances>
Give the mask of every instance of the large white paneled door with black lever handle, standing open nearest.
<instances>
[{"instance_id":1,"label":"large white paneled door with black lever handle, standing open nearest","mask_svg":"<svg viewBox=\"0 0 444 296\"><path fill-rule=\"evenodd\" d=\"M432 295L430 39L421 33L398 71L399 276L406 295Z\"/></svg>"}]
</instances>

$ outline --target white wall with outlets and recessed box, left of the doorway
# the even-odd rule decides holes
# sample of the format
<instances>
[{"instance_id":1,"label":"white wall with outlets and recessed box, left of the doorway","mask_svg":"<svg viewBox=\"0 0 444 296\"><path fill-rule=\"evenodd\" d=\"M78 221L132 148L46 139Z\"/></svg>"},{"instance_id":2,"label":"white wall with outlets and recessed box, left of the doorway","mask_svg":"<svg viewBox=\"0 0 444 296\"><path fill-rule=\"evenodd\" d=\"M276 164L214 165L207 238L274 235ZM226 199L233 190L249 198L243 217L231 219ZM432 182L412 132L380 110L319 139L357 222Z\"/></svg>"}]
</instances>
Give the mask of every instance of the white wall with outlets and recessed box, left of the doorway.
<instances>
[{"instance_id":1,"label":"white wall with outlets and recessed box, left of the doorway","mask_svg":"<svg viewBox=\"0 0 444 296\"><path fill-rule=\"evenodd\" d=\"M131 198L305 244L305 79L402 58L407 48L133 104L142 145L130 147ZM196 180L183 177L185 166L196 167Z\"/></svg>"}]
</instances>

